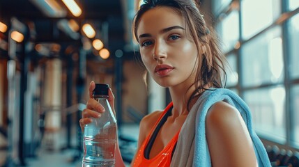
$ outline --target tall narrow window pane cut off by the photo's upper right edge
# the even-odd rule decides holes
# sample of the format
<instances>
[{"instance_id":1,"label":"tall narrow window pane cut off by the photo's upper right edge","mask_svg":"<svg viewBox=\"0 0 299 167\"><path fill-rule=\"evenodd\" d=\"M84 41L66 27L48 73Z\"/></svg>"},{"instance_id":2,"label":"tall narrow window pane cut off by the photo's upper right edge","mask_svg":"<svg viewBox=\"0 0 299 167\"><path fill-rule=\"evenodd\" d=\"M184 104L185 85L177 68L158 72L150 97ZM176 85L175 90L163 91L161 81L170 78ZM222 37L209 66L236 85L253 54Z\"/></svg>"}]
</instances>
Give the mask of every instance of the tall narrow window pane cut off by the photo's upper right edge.
<instances>
[{"instance_id":1,"label":"tall narrow window pane cut off by the photo's upper right edge","mask_svg":"<svg viewBox=\"0 0 299 167\"><path fill-rule=\"evenodd\" d=\"M298 1L299 2L299 1ZM290 20L290 54L291 58L289 61L289 67L291 70L291 77L298 78L299 77L299 14L291 17Z\"/></svg>"}]
</instances>

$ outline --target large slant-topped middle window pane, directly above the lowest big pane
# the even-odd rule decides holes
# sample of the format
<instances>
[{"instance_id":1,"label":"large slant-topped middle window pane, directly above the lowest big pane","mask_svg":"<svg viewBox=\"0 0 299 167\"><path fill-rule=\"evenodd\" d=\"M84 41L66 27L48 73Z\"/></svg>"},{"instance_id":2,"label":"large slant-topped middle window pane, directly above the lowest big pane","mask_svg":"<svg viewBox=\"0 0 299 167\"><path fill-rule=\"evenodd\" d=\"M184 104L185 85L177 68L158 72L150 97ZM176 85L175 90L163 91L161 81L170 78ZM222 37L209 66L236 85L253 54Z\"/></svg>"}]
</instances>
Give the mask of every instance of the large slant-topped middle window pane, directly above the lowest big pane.
<instances>
[{"instance_id":1,"label":"large slant-topped middle window pane, directly above the lowest big pane","mask_svg":"<svg viewBox=\"0 0 299 167\"><path fill-rule=\"evenodd\" d=\"M284 62L280 26L245 43L241 59L244 86L282 82Z\"/></svg>"}]
</instances>

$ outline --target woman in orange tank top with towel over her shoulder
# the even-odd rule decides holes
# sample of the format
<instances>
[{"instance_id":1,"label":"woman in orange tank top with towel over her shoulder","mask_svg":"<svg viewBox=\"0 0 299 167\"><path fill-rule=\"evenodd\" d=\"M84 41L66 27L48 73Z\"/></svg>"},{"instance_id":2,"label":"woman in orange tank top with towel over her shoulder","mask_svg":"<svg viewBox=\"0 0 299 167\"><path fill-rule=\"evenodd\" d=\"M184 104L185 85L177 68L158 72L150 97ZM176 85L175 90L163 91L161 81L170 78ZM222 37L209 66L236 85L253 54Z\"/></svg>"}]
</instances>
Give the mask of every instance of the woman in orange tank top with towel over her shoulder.
<instances>
[{"instance_id":1,"label":"woman in orange tank top with towel over her shoulder","mask_svg":"<svg viewBox=\"0 0 299 167\"><path fill-rule=\"evenodd\" d=\"M133 31L146 69L169 88L172 102L141 120L132 166L270 166L247 107L222 89L224 56L198 2L145 1ZM90 94L94 87L91 82ZM80 120L82 129L101 112L91 98ZM124 166L117 150L116 166Z\"/></svg>"}]
</instances>

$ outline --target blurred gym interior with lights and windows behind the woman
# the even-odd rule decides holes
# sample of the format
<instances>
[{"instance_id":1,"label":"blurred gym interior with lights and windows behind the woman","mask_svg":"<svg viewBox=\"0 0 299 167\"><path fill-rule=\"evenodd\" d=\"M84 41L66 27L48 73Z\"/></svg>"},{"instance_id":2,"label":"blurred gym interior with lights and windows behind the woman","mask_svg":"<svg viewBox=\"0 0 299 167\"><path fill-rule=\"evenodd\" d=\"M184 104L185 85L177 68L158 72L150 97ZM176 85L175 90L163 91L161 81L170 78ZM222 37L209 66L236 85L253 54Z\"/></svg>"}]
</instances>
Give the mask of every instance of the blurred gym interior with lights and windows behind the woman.
<instances>
[{"instance_id":1,"label":"blurred gym interior with lights and windows behind the woman","mask_svg":"<svg viewBox=\"0 0 299 167\"><path fill-rule=\"evenodd\" d=\"M91 81L114 91L130 164L139 121L171 101L144 82L131 32L141 3L0 0L0 166L81 166ZM250 106L273 166L298 165L299 1L201 0L201 13L222 40L227 88Z\"/></svg>"}]
</instances>

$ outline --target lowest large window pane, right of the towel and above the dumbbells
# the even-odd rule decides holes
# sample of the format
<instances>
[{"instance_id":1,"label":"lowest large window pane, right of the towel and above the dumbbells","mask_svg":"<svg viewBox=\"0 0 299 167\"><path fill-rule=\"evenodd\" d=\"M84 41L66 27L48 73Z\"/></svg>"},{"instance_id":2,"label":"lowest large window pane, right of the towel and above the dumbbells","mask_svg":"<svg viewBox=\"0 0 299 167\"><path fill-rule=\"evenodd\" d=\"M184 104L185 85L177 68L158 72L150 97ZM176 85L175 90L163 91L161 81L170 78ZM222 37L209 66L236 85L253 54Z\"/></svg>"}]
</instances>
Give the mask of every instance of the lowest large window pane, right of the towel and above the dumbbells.
<instances>
[{"instance_id":1,"label":"lowest large window pane, right of the towel and above the dumbbells","mask_svg":"<svg viewBox=\"0 0 299 167\"><path fill-rule=\"evenodd\" d=\"M285 90L283 86L244 92L244 100L252 111L254 129L258 134L286 141Z\"/></svg>"}]
</instances>

